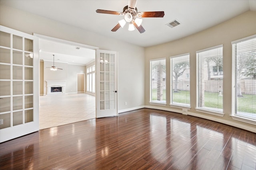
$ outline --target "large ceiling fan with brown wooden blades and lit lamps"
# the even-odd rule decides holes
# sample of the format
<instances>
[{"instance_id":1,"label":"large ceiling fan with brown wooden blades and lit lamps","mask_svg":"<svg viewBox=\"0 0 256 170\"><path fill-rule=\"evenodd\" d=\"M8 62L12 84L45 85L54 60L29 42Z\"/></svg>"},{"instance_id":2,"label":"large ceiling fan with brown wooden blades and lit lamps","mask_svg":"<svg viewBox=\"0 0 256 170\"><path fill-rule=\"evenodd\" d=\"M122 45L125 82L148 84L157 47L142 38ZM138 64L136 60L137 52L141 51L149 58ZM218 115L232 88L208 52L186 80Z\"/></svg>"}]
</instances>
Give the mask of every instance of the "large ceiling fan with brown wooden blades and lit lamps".
<instances>
[{"instance_id":1,"label":"large ceiling fan with brown wooden blades and lit lamps","mask_svg":"<svg viewBox=\"0 0 256 170\"><path fill-rule=\"evenodd\" d=\"M124 16L123 20L118 21L118 24L111 30L117 31L120 27L124 27L124 25L129 23L129 31L133 31L135 28L138 29L140 33L144 33L145 29L142 27L142 18L152 18L152 17L164 17L164 11L155 11L155 12L138 12L136 8L137 0L129 0L128 6L123 8L123 12L117 11L108 11L108 10L96 10L97 13L102 14L113 14Z\"/></svg>"}]
</instances>

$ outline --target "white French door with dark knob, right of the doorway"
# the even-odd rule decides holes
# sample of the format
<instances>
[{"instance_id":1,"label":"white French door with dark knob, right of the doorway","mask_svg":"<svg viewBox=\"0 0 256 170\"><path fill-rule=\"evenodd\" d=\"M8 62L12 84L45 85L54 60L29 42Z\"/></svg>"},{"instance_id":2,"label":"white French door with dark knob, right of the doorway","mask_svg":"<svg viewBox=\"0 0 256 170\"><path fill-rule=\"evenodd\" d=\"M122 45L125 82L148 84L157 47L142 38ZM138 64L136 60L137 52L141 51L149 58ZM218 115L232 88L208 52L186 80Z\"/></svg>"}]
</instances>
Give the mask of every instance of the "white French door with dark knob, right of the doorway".
<instances>
[{"instance_id":1,"label":"white French door with dark knob, right of the doorway","mask_svg":"<svg viewBox=\"0 0 256 170\"><path fill-rule=\"evenodd\" d=\"M96 50L96 118L118 116L117 52Z\"/></svg>"}]
</instances>

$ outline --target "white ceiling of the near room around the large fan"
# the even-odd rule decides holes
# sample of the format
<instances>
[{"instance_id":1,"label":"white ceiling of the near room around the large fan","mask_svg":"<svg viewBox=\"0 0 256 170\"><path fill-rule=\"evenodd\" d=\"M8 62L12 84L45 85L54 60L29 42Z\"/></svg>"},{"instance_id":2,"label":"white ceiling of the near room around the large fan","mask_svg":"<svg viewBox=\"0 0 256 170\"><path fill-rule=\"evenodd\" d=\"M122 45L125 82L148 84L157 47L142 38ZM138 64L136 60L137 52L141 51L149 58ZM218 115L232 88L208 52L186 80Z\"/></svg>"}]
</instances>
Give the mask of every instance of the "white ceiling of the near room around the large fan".
<instances>
[{"instance_id":1,"label":"white ceiling of the near room around the large fan","mask_svg":"<svg viewBox=\"0 0 256 170\"><path fill-rule=\"evenodd\" d=\"M138 0L138 12L164 11L164 18L143 18L146 30L128 31L128 24L110 31L123 16L98 14L97 9L122 12L128 0L1 0L0 4L74 25L101 35L148 47L191 35L229 20L248 10L256 0ZM181 25L166 24L178 20Z\"/></svg>"}]
</instances>

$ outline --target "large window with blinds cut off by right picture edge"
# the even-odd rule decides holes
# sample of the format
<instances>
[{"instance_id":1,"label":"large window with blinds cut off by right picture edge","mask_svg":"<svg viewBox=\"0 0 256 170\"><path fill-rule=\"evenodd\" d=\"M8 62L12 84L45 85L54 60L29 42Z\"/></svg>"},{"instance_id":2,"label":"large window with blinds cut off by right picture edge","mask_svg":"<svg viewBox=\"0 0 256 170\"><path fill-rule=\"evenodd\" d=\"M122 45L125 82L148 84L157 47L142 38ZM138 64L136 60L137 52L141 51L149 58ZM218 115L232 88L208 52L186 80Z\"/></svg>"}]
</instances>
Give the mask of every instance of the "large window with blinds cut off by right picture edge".
<instances>
[{"instance_id":1,"label":"large window with blinds cut off by right picture edge","mask_svg":"<svg viewBox=\"0 0 256 170\"><path fill-rule=\"evenodd\" d=\"M232 115L256 124L256 35L232 42Z\"/></svg>"}]
</instances>

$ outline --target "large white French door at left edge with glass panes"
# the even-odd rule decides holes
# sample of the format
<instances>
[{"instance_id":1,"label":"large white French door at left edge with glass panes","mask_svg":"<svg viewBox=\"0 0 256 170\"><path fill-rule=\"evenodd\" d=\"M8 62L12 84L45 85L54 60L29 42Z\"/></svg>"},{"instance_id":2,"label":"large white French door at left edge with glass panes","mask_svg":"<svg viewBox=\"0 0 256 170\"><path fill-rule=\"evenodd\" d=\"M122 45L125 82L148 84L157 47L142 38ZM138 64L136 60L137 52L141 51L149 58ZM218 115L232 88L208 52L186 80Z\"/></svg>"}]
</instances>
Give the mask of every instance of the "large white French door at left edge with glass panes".
<instances>
[{"instance_id":1,"label":"large white French door at left edge with glass panes","mask_svg":"<svg viewBox=\"0 0 256 170\"><path fill-rule=\"evenodd\" d=\"M0 25L0 142L39 130L38 38Z\"/></svg>"}]
</instances>

